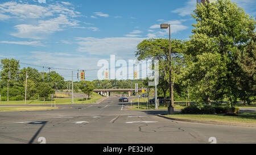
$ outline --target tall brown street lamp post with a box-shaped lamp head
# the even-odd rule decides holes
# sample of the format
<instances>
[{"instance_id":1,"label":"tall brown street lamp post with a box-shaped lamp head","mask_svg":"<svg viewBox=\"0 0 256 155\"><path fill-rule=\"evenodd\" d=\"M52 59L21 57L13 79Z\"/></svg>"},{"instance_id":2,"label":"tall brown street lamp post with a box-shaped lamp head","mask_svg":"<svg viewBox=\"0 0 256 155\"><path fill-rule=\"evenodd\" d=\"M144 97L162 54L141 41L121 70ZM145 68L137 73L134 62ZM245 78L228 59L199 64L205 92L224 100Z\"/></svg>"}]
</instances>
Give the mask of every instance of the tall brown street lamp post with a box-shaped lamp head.
<instances>
[{"instance_id":1,"label":"tall brown street lamp post with a box-shaped lamp head","mask_svg":"<svg viewBox=\"0 0 256 155\"><path fill-rule=\"evenodd\" d=\"M172 94L173 94L173 92L172 92L172 85L171 85L171 83L172 83L172 78L171 78L171 73L172 73L172 66L171 66L171 24L161 24L160 25L160 28L169 28L169 90L170 90L170 92L169 92L169 96L170 96L170 106L168 107L168 114L170 115L172 115L172 114L174 114L174 100L173 100L173 98L174 97L172 97Z\"/></svg>"}]
</instances>

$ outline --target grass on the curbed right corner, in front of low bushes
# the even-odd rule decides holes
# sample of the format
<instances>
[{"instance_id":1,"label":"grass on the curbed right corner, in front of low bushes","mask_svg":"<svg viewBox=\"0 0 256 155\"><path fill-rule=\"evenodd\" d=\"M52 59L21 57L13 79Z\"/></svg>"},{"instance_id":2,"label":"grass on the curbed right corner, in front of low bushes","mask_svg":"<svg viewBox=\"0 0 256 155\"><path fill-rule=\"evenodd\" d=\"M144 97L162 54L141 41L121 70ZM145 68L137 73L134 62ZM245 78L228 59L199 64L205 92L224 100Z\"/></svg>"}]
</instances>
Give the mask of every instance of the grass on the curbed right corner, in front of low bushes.
<instances>
[{"instance_id":1,"label":"grass on the curbed right corner, in front of low bushes","mask_svg":"<svg viewBox=\"0 0 256 155\"><path fill-rule=\"evenodd\" d=\"M256 123L256 112L243 112L238 114L238 116L224 116L223 114L211 114L211 115L201 115L201 114L174 114L166 115L171 118L179 119L198 119L198 120L213 120L218 122L240 122L240 123Z\"/></svg>"}]
</instances>

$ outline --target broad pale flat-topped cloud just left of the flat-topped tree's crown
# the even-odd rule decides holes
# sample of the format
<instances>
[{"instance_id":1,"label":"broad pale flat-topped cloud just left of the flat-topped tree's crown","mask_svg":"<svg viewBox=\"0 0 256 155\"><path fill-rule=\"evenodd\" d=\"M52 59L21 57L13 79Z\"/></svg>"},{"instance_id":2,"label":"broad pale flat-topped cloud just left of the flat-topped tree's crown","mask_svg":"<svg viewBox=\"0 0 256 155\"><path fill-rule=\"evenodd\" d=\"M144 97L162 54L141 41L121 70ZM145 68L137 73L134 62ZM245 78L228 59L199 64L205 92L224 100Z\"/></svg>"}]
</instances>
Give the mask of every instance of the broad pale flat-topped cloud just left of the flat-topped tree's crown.
<instances>
[{"instance_id":1,"label":"broad pale flat-topped cloud just left of the flat-topped tree's crown","mask_svg":"<svg viewBox=\"0 0 256 155\"><path fill-rule=\"evenodd\" d=\"M77 51L88 52L91 55L122 55L134 56L137 45L146 38L142 37L78 37Z\"/></svg>"}]
</instances>

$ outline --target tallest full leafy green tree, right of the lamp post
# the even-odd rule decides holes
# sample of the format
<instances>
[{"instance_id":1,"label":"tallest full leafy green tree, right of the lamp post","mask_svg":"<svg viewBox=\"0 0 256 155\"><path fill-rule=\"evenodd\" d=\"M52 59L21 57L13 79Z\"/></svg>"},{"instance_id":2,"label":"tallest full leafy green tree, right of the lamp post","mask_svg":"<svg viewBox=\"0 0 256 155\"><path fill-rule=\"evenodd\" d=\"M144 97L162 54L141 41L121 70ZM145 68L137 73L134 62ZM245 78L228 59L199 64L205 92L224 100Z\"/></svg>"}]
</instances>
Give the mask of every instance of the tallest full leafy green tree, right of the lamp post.
<instances>
[{"instance_id":1,"label":"tallest full leafy green tree, right of the lamp post","mask_svg":"<svg viewBox=\"0 0 256 155\"><path fill-rule=\"evenodd\" d=\"M255 33L255 19L245 14L243 9L230 0L197 5L194 13L192 16L197 23L192 24L195 28L187 44L187 55L191 56L192 62L195 63L192 66L197 68L192 69L190 74L195 70L204 70L204 72L198 73L203 76L193 79L195 85L191 84L193 87L207 87L206 96L203 95L201 98L205 103L208 103L205 98L226 97L232 107L239 97L237 78L241 77L242 73L241 67L236 62L237 52L245 49L246 44L252 39ZM215 58L216 62L210 61L210 57ZM206 62L207 60L209 63ZM210 74L215 77L207 78ZM190 79L192 77L195 76L191 76Z\"/></svg>"}]
</instances>

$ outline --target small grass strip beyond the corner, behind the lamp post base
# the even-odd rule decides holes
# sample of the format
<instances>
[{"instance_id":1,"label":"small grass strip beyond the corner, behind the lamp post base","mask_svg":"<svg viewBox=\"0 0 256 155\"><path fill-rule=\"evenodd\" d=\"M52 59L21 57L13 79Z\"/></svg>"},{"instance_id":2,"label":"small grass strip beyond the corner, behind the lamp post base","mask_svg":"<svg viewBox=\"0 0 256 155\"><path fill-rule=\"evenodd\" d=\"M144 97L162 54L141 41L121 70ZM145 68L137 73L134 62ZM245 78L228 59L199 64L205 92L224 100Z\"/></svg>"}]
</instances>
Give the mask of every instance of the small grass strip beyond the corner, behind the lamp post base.
<instances>
[{"instance_id":1,"label":"small grass strip beyond the corner, behind the lamp post base","mask_svg":"<svg viewBox=\"0 0 256 155\"><path fill-rule=\"evenodd\" d=\"M160 104L160 106L158 107L159 110L167 110L168 109L169 104L166 104L166 106L164 106L164 104ZM186 104L174 104L174 109L182 109L185 108ZM148 109L147 109L147 105L146 104L139 104L139 108L138 108L138 104L133 104L133 106L130 108L130 110L154 110L155 109L155 104L149 104L148 105Z\"/></svg>"}]
</instances>

